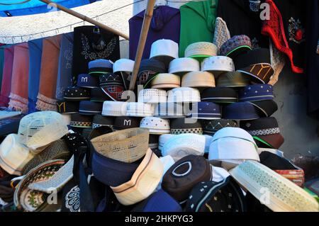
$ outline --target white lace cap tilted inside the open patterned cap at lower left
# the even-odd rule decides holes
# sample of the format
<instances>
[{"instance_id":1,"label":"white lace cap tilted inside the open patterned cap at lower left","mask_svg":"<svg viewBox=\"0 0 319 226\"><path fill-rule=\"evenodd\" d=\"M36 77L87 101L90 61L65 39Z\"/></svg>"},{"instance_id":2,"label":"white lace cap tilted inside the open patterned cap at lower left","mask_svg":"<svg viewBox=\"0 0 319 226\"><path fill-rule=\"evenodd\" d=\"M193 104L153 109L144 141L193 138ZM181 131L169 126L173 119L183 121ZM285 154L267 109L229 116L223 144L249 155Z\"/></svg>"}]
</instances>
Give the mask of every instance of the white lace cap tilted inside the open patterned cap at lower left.
<instances>
[{"instance_id":1,"label":"white lace cap tilted inside the open patterned cap at lower left","mask_svg":"<svg viewBox=\"0 0 319 226\"><path fill-rule=\"evenodd\" d=\"M52 193L52 191L60 191L65 184L73 177L74 155L62 166L50 179L30 183L28 188L35 191L43 191Z\"/></svg>"}]
</instances>

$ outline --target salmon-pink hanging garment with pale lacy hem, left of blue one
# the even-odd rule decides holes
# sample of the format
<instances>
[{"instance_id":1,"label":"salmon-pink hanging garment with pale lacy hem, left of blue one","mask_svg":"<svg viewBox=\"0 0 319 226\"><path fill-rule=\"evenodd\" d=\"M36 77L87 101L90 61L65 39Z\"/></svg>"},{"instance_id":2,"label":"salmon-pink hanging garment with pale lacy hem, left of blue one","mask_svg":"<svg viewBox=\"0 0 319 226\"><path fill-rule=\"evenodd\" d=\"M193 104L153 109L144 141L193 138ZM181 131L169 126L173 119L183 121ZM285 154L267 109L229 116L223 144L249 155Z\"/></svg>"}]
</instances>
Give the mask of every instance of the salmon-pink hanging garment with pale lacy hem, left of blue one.
<instances>
[{"instance_id":1,"label":"salmon-pink hanging garment with pale lacy hem, left of blue one","mask_svg":"<svg viewBox=\"0 0 319 226\"><path fill-rule=\"evenodd\" d=\"M14 47L9 108L28 112L29 48L28 43Z\"/></svg>"}]
</instances>

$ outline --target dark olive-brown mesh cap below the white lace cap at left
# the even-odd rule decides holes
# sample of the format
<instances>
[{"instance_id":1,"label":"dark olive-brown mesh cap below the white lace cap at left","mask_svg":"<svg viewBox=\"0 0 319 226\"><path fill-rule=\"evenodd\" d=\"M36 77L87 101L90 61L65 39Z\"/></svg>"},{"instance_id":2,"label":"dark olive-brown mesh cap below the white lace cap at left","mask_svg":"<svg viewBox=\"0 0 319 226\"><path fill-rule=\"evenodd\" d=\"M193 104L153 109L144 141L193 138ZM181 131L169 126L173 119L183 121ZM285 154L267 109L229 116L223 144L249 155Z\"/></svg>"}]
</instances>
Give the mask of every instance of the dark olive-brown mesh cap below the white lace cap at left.
<instances>
[{"instance_id":1,"label":"dark olive-brown mesh cap below the white lace cap at left","mask_svg":"<svg viewBox=\"0 0 319 226\"><path fill-rule=\"evenodd\" d=\"M25 166L23 166L23 175L28 174L31 169L49 160L62 159L67 162L67 160L69 160L69 157L71 157L71 154L72 153L69 152L65 140L60 139L52 142L52 144L46 147L43 152L35 154L34 157L30 159L30 161Z\"/></svg>"}]
</instances>

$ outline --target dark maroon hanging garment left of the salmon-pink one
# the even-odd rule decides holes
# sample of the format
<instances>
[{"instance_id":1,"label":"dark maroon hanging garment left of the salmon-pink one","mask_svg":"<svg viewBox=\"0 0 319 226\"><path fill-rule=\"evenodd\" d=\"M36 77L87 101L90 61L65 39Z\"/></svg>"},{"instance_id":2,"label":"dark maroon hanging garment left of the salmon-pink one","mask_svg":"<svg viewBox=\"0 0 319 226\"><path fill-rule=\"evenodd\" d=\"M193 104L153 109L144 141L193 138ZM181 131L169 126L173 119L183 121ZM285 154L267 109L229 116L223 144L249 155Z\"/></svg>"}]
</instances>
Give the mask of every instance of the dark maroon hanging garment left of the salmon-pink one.
<instances>
[{"instance_id":1,"label":"dark maroon hanging garment left of the salmon-pink one","mask_svg":"<svg viewBox=\"0 0 319 226\"><path fill-rule=\"evenodd\" d=\"M4 49L4 71L1 84L0 106L7 107L11 91L11 77L13 65L14 45Z\"/></svg>"}]
</instances>

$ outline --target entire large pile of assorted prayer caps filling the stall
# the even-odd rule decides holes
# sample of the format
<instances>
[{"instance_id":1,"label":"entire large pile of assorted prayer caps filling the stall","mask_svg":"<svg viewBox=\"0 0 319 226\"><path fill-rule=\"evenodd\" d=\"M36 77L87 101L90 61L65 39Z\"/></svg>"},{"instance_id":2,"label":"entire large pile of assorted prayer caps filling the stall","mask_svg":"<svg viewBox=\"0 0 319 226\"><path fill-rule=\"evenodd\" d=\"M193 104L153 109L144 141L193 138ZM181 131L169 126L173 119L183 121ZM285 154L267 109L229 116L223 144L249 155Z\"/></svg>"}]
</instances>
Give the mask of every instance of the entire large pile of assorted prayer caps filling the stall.
<instances>
[{"instance_id":1,"label":"entire large pile of assorted prayer caps filling the stall","mask_svg":"<svg viewBox=\"0 0 319 226\"><path fill-rule=\"evenodd\" d=\"M237 35L178 52L155 41L128 96L134 62L94 60L60 114L22 118L0 145L2 210L319 211L318 180L279 150L269 50Z\"/></svg>"}]
</instances>

